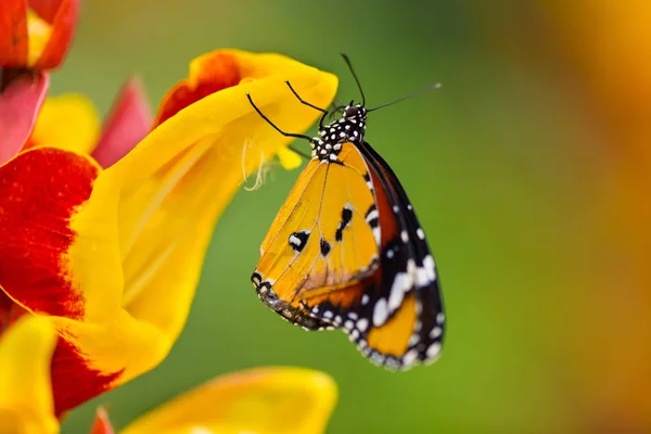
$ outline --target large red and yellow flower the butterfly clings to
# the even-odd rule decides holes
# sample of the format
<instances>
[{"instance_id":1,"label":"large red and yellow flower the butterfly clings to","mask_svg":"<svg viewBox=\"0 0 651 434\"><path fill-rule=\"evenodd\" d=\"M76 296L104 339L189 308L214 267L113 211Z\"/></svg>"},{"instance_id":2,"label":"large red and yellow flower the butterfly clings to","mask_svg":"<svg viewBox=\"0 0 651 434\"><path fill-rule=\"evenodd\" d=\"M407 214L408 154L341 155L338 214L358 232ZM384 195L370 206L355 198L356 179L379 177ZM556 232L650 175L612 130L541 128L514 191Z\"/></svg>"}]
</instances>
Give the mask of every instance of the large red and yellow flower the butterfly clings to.
<instances>
[{"instance_id":1,"label":"large red and yellow flower the butterfly clings to","mask_svg":"<svg viewBox=\"0 0 651 434\"><path fill-rule=\"evenodd\" d=\"M321 106L336 88L334 76L282 55L218 50L192 62L151 132L114 164L117 154L107 157L106 169L54 142L0 166L4 311L51 317L61 337L52 358L56 416L166 357L242 171L290 142L246 93L289 131L318 115L285 80Z\"/></svg>"}]
</instances>

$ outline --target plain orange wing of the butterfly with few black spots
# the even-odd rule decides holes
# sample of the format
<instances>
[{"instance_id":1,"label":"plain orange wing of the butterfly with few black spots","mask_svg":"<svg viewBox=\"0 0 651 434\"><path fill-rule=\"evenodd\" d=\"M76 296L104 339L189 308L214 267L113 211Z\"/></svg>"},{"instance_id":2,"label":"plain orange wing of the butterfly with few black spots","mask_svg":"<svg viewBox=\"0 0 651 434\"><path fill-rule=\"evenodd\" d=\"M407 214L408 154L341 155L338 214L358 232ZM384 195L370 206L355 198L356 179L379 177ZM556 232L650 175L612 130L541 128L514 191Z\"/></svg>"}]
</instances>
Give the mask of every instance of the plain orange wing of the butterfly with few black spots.
<instances>
[{"instance_id":1,"label":"plain orange wing of the butterfly with few black spots","mask_svg":"<svg viewBox=\"0 0 651 434\"><path fill-rule=\"evenodd\" d=\"M339 327L334 310L314 310L329 294L341 305L361 299L355 285L378 267L379 226L369 225L374 195L368 168L352 143L340 163L314 158L301 174L260 247L252 277L258 296L289 321L309 330ZM365 178L366 175L366 178Z\"/></svg>"}]
</instances>

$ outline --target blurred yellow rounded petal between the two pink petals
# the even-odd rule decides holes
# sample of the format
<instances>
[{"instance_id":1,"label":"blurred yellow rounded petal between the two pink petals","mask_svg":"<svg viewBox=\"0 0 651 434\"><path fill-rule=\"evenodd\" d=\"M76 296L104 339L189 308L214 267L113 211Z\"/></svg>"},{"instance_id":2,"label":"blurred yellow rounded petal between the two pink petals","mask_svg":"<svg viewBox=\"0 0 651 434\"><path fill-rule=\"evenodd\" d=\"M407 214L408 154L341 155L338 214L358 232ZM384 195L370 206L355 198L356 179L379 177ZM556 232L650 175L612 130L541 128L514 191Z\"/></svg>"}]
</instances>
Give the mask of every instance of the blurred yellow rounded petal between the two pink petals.
<instances>
[{"instance_id":1,"label":"blurred yellow rounded petal between the two pink petals","mask_svg":"<svg viewBox=\"0 0 651 434\"><path fill-rule=\"evenodd\" d=\"M46 100L26 148L47 145L90 154L100 133L100 122L92 102L76 93Z\"/></svg>"}]
</instances>

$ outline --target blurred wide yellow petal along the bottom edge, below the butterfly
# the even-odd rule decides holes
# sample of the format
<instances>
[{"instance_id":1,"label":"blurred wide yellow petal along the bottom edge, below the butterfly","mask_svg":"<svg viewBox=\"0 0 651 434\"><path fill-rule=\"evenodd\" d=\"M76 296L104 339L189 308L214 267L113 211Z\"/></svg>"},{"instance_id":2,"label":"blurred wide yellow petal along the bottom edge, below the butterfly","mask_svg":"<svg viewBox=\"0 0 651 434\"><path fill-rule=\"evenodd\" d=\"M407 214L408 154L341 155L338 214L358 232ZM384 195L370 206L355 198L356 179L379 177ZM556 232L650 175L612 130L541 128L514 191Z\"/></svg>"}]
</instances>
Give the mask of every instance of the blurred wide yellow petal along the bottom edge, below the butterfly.
<instances>
[{"instance_id":1,"label":"blurred wide yellow petal along the bottom edge, below the butterfly","mask_svg":"<svg viewBox=\"0 0 651 434\"><path fill-rule=\"evenodd\" d=\"M220 376L127 426L122 434L318 434L336 401L327 374L302 368L263 368Z\"/></svg>"}]
</instances>

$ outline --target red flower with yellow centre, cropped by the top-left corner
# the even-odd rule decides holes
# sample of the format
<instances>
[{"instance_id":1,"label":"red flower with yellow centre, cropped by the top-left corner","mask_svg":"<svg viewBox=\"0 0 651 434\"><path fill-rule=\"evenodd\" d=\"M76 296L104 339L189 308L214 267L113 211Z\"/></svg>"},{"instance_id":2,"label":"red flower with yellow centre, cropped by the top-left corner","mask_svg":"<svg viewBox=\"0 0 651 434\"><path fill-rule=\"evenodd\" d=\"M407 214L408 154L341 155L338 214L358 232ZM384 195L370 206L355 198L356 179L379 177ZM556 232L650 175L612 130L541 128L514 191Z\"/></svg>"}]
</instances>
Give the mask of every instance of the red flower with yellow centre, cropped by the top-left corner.
<instances>
[{"instance_id":1,"label":"red flower with yellow centre, cropped by the top-left corner","mask_svg":"<svg viewBox=\"0 0 651 434\"><path fill-rule=\"evenodd\" d=\"M3 0L0 66L58 67L73 40L80 0Z\"/></svg>"}]
</instances>

